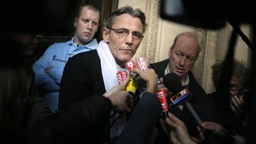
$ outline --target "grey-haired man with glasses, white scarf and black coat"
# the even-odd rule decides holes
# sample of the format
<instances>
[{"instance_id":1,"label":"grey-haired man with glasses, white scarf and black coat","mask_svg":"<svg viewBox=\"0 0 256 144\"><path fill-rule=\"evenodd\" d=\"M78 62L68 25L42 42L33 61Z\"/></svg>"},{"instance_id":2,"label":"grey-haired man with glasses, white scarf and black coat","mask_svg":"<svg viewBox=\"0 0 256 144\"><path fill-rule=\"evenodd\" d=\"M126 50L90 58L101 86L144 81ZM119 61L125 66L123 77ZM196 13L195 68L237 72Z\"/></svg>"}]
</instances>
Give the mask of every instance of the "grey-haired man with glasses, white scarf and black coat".
<instances>
[{"instance_id":1,"label":"grey-haired man with glasses, white scarf and black coat","mask_svg":"<svg viewBox=\"0 0 256 144\"><path fill-rule=\"evenodd\" d=\"M146 30L145 21L145 14L140 9L129 6L121 7L105 18L103 40L97 49L79 53L66 63L60 84L59 113L68 111L73 103L93 94L104 94L119 84L117 71L126 68L126 62L135 55ZM113 121L104 122L91 127L98 135L91 136L87 143L106 142L110 137L119 136L126 117L118 119L110 132L108 127Z\"/></svg>"}]
</instances>

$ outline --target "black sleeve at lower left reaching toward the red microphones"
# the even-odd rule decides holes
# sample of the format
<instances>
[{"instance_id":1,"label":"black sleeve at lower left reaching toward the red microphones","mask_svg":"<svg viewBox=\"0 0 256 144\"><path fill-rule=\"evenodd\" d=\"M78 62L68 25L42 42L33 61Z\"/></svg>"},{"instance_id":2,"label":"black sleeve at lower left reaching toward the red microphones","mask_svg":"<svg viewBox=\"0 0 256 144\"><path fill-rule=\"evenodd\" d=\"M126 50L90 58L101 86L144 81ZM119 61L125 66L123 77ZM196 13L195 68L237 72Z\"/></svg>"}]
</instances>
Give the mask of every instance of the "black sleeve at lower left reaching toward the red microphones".
<instances>
[{"instance_id":1,"label":"black sleeve at lower left reaching toward the red microphones","mask_svg":"<svg viewBox=\"0 0 256 144\"><path fill-rule=\"evenodd\" d=\"M93 95L73 104L63 114L52 114L41 120L28 130L27 139L32 143L86 143L98 140L111 108L108 98Z\"/></svg>"}]
</instances>

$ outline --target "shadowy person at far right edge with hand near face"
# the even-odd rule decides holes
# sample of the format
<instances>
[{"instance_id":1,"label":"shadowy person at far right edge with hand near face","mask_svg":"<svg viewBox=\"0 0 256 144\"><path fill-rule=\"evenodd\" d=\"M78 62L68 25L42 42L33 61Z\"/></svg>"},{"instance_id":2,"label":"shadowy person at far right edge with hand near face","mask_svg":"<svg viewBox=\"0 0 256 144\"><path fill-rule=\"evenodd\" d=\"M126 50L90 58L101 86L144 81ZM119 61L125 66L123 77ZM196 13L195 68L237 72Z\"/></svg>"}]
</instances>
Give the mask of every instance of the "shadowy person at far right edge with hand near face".
<instances>
[{"instance_id":1,"label":"shadowy person at far right edge with hand near face","mask_svg":"<svg viewBox=\"0 0 256 144\"><path fill-rule=\"evenodd\" d=\"M201 101L208 104L198 109L202 126L215 135L216 143L245 143L249 108L246 104L250 92L251 70L244 63L233 59L229 87L226 93L221 86L225 62L212 66L212 80L215 92L205 95Z\"/></svg>"}]
</instances>

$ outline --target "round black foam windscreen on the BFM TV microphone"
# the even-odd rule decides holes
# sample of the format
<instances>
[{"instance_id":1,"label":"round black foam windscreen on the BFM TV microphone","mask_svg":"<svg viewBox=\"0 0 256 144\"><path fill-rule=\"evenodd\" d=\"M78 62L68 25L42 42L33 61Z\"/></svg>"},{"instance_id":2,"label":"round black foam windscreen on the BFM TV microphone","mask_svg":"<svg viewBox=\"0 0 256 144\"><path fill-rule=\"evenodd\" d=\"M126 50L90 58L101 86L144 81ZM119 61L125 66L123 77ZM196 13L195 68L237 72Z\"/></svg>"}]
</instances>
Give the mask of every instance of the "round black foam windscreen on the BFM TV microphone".
<instances>
[{"instance_id":1,"label":"round black foam windscreen on the BFM TV microphone","mask_svg":"<svg viewBox=\"0 0 256 144\"><path fill-rule=\"evenodd\" d=\"M179 76L174 72L170 72L164 76L164 85L171 92L178 92L183 87Z\"/></svg>"}]
</instances>

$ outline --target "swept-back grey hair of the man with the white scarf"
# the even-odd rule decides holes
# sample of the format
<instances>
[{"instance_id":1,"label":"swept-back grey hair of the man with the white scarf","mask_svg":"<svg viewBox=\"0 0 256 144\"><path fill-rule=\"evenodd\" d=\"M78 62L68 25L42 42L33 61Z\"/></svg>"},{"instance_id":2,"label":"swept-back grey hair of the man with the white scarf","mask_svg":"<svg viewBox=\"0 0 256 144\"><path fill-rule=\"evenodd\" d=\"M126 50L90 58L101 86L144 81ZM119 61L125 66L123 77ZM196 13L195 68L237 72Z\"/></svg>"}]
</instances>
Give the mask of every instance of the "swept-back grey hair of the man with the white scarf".
<instances>
[{"instance_id":1,"label":"swept-back grey hair of the man with the white scarf","mask_svg":"<svg viewBox=\"0 0 256 144\"><path fill-rule=\"evenodd\" d=\"M112 12L110 15L108 15L108 17L106 17L104 20L104 26L106 28L111 28L114 23L114 20L116 20L116 17L121 14L130 14L133 17L139 18L143 25L143 33L145 33L147 24L144 12L142 12L139 8L133 9L130 6L121 7L116 11Z\"/></svg>"}]
</instances>

